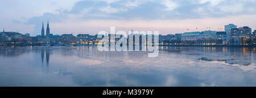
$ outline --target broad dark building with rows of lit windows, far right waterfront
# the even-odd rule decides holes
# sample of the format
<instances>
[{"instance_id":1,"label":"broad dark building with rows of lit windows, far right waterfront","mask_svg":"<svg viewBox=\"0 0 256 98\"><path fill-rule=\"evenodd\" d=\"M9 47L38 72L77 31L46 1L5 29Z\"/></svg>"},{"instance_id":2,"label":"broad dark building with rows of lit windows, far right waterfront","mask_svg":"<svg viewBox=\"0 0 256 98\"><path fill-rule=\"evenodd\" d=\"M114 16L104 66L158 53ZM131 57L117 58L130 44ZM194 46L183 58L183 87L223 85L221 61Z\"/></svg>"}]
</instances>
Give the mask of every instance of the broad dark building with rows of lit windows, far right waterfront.
<instances>
[{"instance_id":1,"label":"broad dark building with rows of lit windows, far right waterfront","mask_svg":"<svg viewBox=\"0 0 256 98\"><path fill-rule=\"evenodd\" d=\"M252 41L251 28L240 27L231 29L230 45L251 45Z\"/></svg>"}]
</instances>

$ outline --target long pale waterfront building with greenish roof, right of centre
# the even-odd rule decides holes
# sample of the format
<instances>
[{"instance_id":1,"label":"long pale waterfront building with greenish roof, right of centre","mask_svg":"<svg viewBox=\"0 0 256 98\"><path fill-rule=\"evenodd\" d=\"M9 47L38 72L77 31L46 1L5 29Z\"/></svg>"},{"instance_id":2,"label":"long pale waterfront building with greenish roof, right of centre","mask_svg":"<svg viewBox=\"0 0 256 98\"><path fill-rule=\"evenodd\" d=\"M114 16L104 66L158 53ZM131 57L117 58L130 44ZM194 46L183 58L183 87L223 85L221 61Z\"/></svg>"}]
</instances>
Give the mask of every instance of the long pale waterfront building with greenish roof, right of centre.
<instances>
[{"instance_id":1,"label":"long pale waterfront building with greenish roof, right of centre","mask_svg":"<svg viewBox=\"0 0 256 98\"><path fill-rule=\"evenodd\" d=\"M182 45L199 45L200 32L185 32L181 35Z\"/></svg>"}]
</instances>

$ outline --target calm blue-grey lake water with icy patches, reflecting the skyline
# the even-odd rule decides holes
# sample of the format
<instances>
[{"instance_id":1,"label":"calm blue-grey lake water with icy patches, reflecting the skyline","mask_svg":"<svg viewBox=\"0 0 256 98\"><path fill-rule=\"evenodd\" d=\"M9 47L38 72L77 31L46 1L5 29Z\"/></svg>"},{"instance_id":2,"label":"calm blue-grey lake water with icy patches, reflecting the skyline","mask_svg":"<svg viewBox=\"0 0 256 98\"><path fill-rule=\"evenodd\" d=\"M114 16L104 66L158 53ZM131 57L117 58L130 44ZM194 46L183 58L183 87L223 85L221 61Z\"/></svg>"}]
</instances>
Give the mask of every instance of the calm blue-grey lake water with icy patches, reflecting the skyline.
<instances>
[{"instance_id":1,"label":"calm blue-grey lake water with icy patches, reflecting the skyline","mask_svg":"<svg viewBox=\"0 0 256 98\"><path fill-rule=\"evenodd\" d=\"M256 48L160 46L99 52L96 46L0 48L0 86L256 86Z\"/></svg>"}]
</instances>

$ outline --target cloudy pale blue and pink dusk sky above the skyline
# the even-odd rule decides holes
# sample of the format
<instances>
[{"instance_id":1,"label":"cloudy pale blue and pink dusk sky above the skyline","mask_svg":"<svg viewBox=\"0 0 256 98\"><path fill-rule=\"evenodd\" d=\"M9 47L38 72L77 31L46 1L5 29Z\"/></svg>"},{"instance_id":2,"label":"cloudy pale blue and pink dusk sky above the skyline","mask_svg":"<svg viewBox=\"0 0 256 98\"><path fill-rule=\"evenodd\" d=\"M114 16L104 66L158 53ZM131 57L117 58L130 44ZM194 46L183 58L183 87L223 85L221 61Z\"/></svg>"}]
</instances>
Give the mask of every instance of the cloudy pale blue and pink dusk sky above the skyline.
<instances>
[{"instance_id":1,"label":"cloudy pale blue and pink dusk sky above the skyline","mask_svg":"<svg viewBox=\"0 0 256 98\"><path fill-rule=\"evenodd\" d=\"M0 31L36 36L48 20L54 35L95 35L112 26L116 32L133 29L167 35L220 31L229 23L254 30L255 5L256 0L8 0L0 3Z\"/></svg>"}]
</instances>

